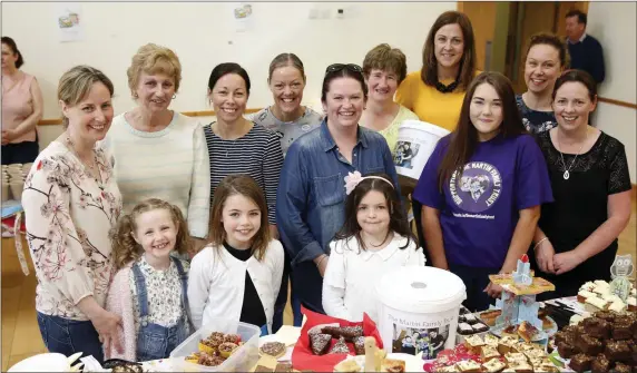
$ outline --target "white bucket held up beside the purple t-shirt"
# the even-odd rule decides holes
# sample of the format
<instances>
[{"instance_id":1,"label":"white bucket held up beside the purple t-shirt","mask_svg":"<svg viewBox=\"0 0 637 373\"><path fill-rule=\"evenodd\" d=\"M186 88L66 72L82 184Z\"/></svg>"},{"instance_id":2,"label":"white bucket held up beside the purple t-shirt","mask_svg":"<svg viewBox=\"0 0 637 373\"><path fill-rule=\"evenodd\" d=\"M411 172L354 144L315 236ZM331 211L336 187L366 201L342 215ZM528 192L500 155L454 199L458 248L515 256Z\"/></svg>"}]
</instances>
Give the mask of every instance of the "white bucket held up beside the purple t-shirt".
<instances>
[{"instance_id":1,"label":"white bucket held up beside the purple t-shirt","mask_svg":"<svg viewBox=\"0 0 637 373\"><path fill-rule=\"evenodd\" d=\"M420 120L404 120L399 127L394 165L400 175L419 179L438 140L449 130Z\"/></svg>"}]
</instances>

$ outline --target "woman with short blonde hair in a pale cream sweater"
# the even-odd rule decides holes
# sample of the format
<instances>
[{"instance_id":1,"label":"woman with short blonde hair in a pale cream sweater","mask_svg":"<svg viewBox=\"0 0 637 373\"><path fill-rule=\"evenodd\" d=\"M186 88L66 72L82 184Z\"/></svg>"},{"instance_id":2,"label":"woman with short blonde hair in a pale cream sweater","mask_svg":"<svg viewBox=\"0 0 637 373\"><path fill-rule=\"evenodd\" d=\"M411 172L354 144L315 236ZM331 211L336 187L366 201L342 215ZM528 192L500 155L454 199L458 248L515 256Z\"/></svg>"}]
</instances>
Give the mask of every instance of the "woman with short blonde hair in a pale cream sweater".
<instances>
[{"instance_id":1,"label":"woman with short blonde hair in a pale cream sweater","mask_svg":"<svg viewBox=\"0 0 637 373\"><path fill-rule=\"evenodd\" d=\"M112 156L124 210L147 198L178 206L190 236L203 247L208 234L208 151L202 126L169 109L179 90L182 65L168 48L143 46L128 68L137 107L112 120L105 147Z\"/></svg>"}]
</instances>

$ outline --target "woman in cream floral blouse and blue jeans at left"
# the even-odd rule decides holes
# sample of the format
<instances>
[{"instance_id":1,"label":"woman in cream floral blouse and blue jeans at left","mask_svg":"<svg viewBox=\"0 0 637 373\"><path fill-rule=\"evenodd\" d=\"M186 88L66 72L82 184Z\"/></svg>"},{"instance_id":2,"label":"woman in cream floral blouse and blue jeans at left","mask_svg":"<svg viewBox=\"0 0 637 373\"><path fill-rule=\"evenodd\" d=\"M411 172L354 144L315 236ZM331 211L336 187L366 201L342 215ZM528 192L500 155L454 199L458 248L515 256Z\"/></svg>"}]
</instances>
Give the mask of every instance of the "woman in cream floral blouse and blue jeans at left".
<instances>
[{"instance_id":1,"label":"woman in cream floral blouse and blue jeans at left","mask_svg":"<svg viewBox=\"0 0 637 373\"><path fill-rule=\"evenodd\" d=\"M101 343L118 341L120 323L104 306L114 272L108 233L121 196L110 164L95 146L110 127L112 94L112 82L88 66L61 77L66 130L40 153L22 194L42 340L50 352L82 352L100 362Z\"/></svg>"}]
</instances>

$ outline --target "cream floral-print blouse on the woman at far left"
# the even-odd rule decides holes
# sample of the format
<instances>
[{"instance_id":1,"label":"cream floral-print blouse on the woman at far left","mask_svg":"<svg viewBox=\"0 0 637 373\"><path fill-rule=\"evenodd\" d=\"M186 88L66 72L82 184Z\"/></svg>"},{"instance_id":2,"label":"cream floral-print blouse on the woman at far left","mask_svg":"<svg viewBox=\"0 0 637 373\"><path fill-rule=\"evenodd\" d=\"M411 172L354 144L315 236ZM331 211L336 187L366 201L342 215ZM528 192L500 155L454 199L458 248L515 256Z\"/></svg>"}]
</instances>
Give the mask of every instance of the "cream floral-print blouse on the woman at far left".
<instances>
[{"instance_id":1,"label":"cream floral-print blouse on the woman at far left","mask_svg":"<svg viewBox=\"0 0 637 373\"><path fill-rule=\"evenodd\" d=\"M114 275L110 228L121 195L104 151L96 150L101 181L59 141L36 159L24 181L27 243L36 266L36 310L86 321L78 302L92 295L105 306Z\"/></svg>"}]
</instances>

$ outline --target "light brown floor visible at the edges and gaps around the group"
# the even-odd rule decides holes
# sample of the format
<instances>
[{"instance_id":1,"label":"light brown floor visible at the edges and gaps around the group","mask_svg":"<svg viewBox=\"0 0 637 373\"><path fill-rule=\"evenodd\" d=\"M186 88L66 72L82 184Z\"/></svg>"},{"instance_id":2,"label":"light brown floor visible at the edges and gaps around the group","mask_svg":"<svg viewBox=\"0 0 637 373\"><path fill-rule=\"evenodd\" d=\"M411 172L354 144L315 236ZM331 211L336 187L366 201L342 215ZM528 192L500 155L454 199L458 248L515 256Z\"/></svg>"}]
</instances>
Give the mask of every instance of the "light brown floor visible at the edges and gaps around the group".
<instances>
[{"instance_id":1,"label":"light brown floor visible at the edges and gaps around the group","mask_svg":"<svg viewBox=\"0 0 637 373\"><path fill-rule=\"evenodd\" d=\"M620 254L633 254L637 259L637 229L635 200L628 227L619 236ZM24 243L24 248L27 245ZM2 238L2 371L31 355L46 352L36 320L36 277L24 276L16 255L12 238ZM288 302L290 305L290 302ZM285 310L284 323L292 324L290 306Z\"/></svg>"}]
</instances>

